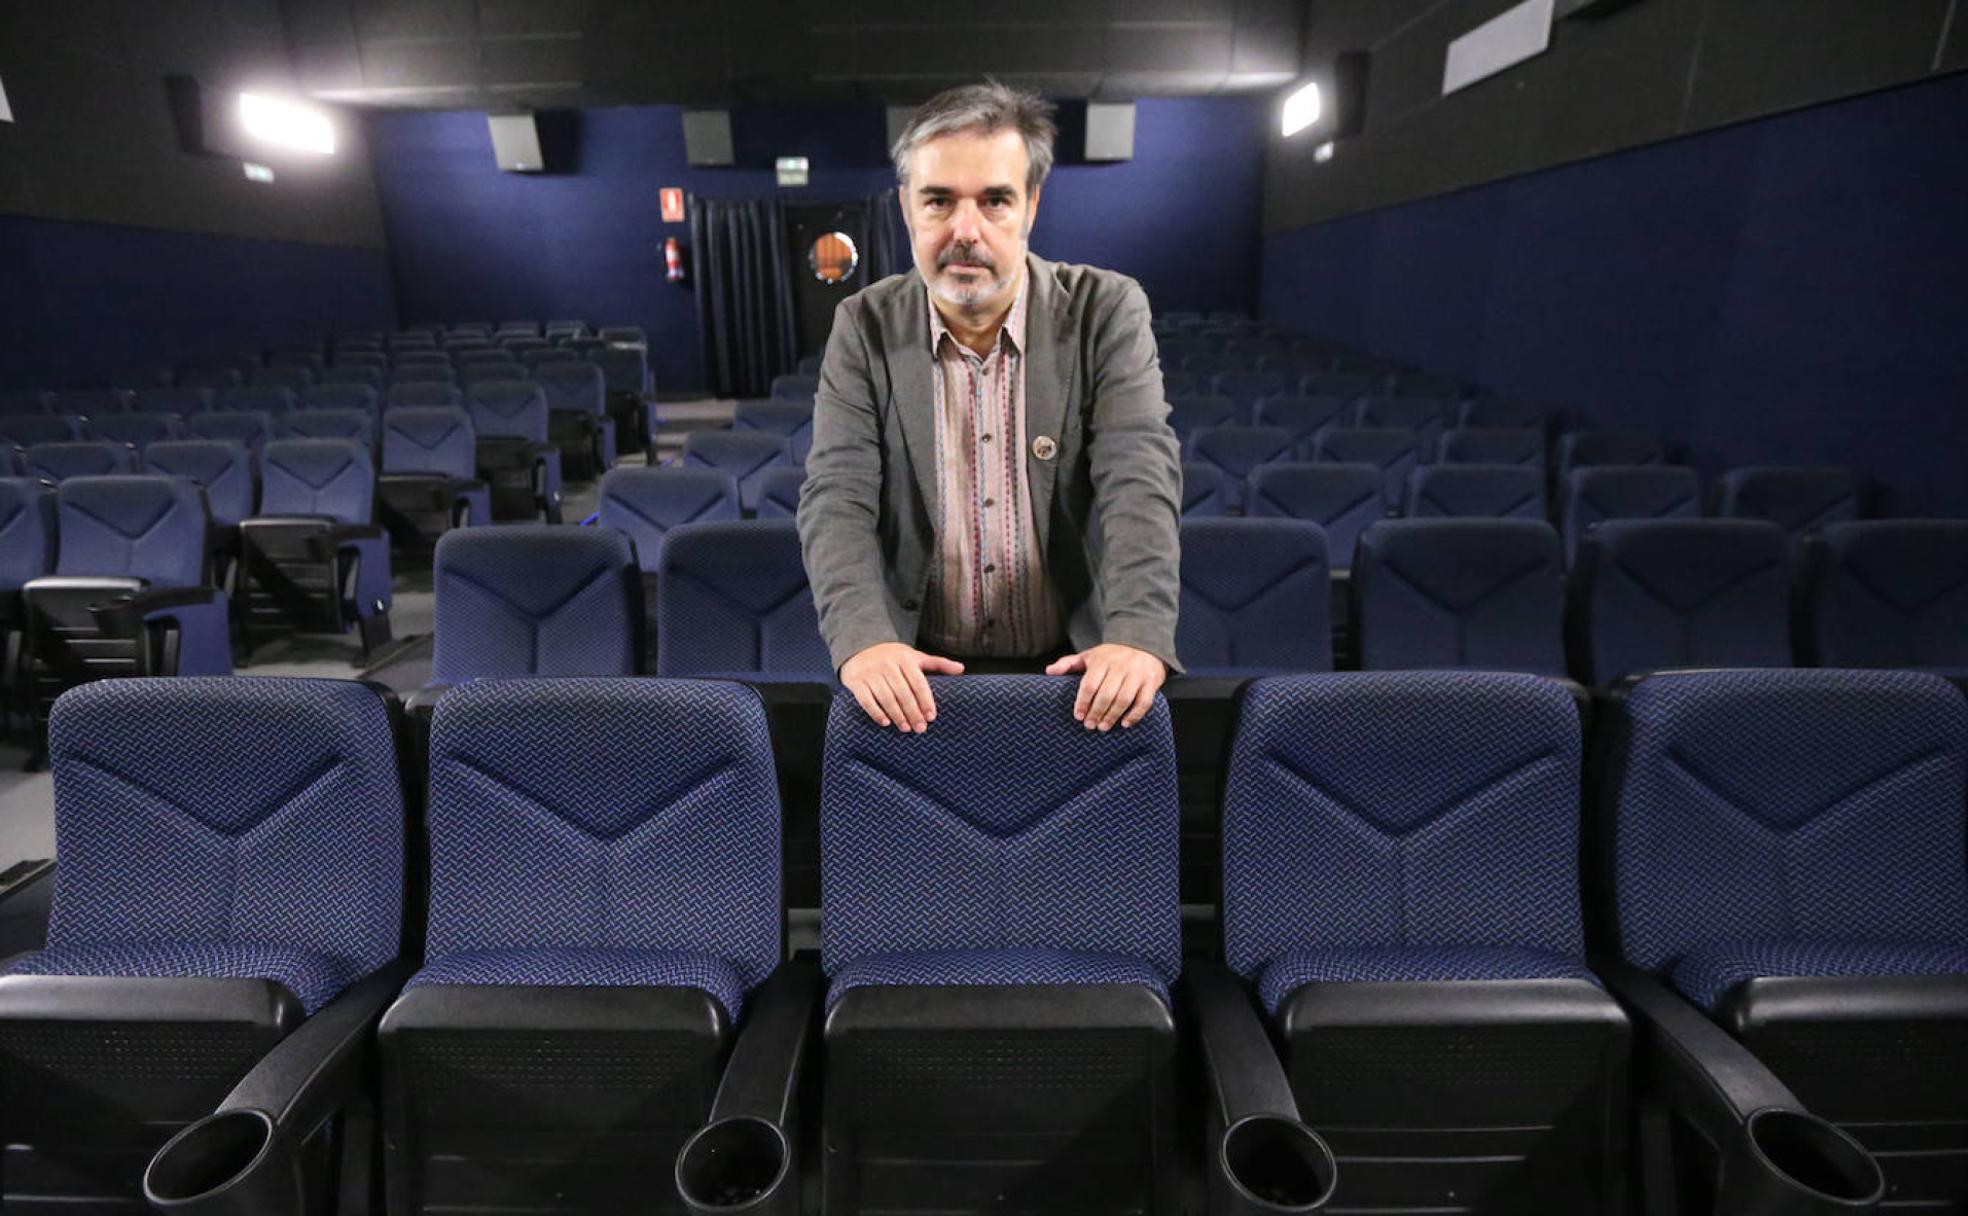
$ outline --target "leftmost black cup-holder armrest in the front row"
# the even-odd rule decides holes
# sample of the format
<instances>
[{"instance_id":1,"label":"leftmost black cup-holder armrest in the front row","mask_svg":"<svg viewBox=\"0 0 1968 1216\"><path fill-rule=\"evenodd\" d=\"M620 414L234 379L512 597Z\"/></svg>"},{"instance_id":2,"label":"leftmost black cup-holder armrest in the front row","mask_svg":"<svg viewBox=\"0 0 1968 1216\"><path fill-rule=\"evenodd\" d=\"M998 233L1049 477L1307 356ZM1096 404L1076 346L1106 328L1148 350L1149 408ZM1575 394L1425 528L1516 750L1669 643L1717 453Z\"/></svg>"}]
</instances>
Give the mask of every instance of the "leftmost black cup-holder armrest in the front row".
<instances>
[{"instance_id":1,"label":"leftmost black cup-holder armrest in the front row","mask_svg":"<svg viewBox=\"0 0 1968 1216\"><path fill-rule=\"evenodd\" d=\"M392 960L281 1039L218 1110L157 1149L144 1198L163 1212L301 1216L301 1143L362 1100L376 1021L407 976Z\"/></svg>"}]
</instances>

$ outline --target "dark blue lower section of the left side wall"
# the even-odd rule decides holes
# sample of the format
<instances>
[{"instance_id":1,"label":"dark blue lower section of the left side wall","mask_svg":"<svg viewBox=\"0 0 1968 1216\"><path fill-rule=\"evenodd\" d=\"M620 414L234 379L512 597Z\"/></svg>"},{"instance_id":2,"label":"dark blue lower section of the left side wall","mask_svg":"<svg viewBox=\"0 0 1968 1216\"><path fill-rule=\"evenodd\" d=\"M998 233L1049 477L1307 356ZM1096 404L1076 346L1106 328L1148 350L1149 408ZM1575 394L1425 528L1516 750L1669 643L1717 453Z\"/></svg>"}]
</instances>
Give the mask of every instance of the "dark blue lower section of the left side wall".
<instances>
[{"instance_id":1,"label":"dark blue lower section of the left side wall","mask_svg":"<svg viewBox=\"0 0 1968 1216\"><path fill-rule=\"evenodd\" d=\"M396 327L384 250L0 216L0 384Z\"/></svg>"}]
</instances>

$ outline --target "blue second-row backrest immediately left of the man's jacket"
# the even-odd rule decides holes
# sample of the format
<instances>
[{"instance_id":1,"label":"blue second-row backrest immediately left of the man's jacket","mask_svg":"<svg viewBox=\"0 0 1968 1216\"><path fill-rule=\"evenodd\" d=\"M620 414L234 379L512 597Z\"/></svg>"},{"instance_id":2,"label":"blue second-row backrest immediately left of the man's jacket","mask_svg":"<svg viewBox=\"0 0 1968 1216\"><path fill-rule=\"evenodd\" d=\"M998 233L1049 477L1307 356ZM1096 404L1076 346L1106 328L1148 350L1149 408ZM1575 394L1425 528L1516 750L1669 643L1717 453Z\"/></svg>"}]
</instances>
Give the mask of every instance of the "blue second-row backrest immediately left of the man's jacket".
<instances>
[{"instance_id":1,"label":"blue second-row backrest immediately left of the man's jacket","mask_svg":"<svg viewBox=\"0 0 1968 1216\"><path fill-rule=\"evenodd\" d=\"M659 675L834 671L791 519L673 527L657 565L655 632Z\"/></svg>"}]
</instances>

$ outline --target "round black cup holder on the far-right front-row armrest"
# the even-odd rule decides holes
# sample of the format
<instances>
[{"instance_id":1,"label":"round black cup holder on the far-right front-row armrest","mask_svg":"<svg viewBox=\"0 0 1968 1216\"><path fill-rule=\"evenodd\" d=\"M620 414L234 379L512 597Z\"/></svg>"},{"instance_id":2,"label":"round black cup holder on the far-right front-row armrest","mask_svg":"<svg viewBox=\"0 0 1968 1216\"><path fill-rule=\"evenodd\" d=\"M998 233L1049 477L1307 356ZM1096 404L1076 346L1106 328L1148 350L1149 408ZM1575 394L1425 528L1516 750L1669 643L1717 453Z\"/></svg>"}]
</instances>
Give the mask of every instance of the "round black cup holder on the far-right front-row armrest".
<instances>
[{"instance_id":1,"label":"round black cup holder on the far-right front-row armrest","mask_svg":"<svg viewBox=\"0 0 1968 1216\"><path fill-rule=\"evenodd\" d=\"M1732 1216L1850 1216L1885 1194L1879 1163L1814 1114L1765 1108L1722 1155L1720 1212Z\"/></svg>"}]
</instances>

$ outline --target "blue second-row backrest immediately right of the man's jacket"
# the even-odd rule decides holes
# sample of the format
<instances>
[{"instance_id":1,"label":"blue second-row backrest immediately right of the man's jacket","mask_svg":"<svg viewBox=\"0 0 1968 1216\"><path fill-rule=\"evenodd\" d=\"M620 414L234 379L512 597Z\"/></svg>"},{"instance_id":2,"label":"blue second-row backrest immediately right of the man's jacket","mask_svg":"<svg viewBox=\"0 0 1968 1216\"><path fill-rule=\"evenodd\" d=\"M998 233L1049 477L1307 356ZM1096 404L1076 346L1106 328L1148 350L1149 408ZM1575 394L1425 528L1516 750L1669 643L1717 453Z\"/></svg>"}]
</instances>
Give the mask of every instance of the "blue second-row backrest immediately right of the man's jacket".
<instances>
[{"instance_id":1,"label":"blue second-row backrest immediately right of the man's jacket","mask_svg":"<svg viewBox=\"0 0 1968 1216\"><path fill-rule=\"evenodd\" d=\"M1181 582L1183 667L1332 669L1332 575L1317 523L1183 519Z\"/></svg>"}]
</instances>

